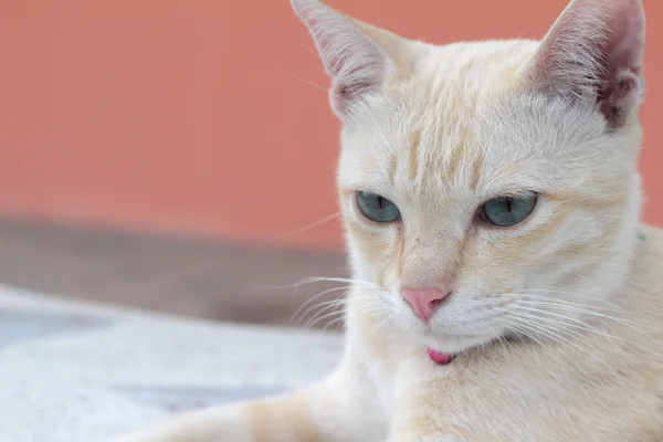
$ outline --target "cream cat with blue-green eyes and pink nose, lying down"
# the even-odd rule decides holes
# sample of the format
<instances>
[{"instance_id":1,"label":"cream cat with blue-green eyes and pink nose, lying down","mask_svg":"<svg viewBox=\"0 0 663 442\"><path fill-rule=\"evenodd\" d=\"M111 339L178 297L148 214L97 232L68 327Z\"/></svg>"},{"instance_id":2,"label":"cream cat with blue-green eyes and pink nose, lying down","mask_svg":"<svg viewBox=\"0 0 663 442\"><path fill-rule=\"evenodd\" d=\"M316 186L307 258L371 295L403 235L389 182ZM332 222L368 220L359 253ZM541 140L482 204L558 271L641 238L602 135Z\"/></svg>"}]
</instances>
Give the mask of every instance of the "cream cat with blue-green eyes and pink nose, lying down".
<instances>
[{"instance_id":1,"label":"cream cat with blue-green eyes and pink nose, lying down","mask_svg":"<svg viewBox=\"0 0 663 442\"><path fill-rule=\"evenodd\" d=\"M442 46L292 3L343 124L345 354L319 385L123 441L663 441L642 1Z\"/></svg>"}]
</instances>

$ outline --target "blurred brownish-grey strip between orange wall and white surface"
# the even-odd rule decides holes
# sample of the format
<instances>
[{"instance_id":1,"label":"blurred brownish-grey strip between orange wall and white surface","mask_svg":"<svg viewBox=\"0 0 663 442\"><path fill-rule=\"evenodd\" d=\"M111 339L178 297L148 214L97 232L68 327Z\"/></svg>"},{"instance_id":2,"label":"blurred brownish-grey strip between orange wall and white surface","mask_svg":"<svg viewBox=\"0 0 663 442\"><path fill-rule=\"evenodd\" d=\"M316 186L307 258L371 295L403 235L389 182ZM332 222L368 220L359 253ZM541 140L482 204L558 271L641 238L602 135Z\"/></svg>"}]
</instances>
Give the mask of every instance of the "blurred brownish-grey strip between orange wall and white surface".
<instances>
[{"instance_id":1,"label":"blurred brownish-grey strip between orange wall and white surface","mask_svg":"<svg viewBox=\"0 0 663 442\"><path fill-rule=\"evenodd\" d=\"M0 220L0 283L179 315L303 326L332 311L316 305L339 283L283 287L311 276L346 276L345 259L324 252L224 244ZM314 308L308 308L308 307ZM334 316L313 327L329 326Z\"/></svg>"}]
</instances>

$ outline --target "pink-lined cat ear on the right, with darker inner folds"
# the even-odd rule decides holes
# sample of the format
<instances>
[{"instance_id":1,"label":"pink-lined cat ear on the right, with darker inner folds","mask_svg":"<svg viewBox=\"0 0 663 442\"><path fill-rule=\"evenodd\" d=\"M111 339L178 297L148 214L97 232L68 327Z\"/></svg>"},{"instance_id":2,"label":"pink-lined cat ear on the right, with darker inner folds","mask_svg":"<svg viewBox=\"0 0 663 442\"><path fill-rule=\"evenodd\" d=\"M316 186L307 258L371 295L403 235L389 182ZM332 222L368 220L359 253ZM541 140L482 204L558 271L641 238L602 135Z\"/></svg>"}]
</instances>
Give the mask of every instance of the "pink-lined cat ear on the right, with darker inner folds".
<instances>
[{"instance_id":1,"label":"pink-lined cat ear on the right, with darker inner folds","mask_svg":"<svg viewBox=\"0 0 663 442\"><path fill-rule=\"evenodd\" d=\"M619 128L644 96L642 0L572 0L543 40L528 74L536 88L594 101Z\"/></svg>"}]
</instances>

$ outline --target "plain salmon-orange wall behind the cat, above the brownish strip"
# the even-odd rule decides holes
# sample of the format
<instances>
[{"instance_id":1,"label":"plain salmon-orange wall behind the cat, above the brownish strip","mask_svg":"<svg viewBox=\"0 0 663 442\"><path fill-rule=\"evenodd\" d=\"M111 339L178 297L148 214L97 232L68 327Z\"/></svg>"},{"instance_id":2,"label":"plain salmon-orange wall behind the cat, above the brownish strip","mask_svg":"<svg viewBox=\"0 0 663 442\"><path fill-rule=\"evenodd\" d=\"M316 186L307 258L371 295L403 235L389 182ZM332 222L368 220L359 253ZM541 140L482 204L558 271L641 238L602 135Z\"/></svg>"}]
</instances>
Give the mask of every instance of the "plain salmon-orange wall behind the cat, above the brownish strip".
<instances>
[{"instance_id":1,"label":"plain salmon-orange wall behind the cat, above the brownish strip","mask_svg":"<svg viewBox=\"0 0 663 442\"><path fill-rule=\"evenodd\" d=\"M335 0L412 38L540 36L566 0ZM663 2L649 18L642 169L663 223ZM0 213L339 244L337 123L286 0L0 3Z\"/></svg>"}]
</instances>

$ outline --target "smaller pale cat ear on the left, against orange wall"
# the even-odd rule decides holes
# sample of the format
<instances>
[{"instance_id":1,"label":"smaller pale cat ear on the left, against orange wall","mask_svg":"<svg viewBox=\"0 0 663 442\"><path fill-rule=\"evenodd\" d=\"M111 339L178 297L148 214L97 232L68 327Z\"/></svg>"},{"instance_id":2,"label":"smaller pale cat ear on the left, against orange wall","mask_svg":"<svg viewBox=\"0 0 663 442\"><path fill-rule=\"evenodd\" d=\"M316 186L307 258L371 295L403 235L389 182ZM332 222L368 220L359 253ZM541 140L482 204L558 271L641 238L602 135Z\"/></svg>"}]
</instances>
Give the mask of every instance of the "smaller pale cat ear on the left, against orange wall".
<instances>
[{"instance_id":1,"label":"smaller pale cat ear on the left, against orange wall","mask_svg":"<svg viewBox=\"0 0 663 442\"><path fill-rule=\"evenodd\" d=\"M398 59L407 53L406 39L346 17L319 0L292 0L292 4L332 78L332 108L341 120L366 95L380 93L389 78L401 73Z\"/></svg>"}]
</instances>

